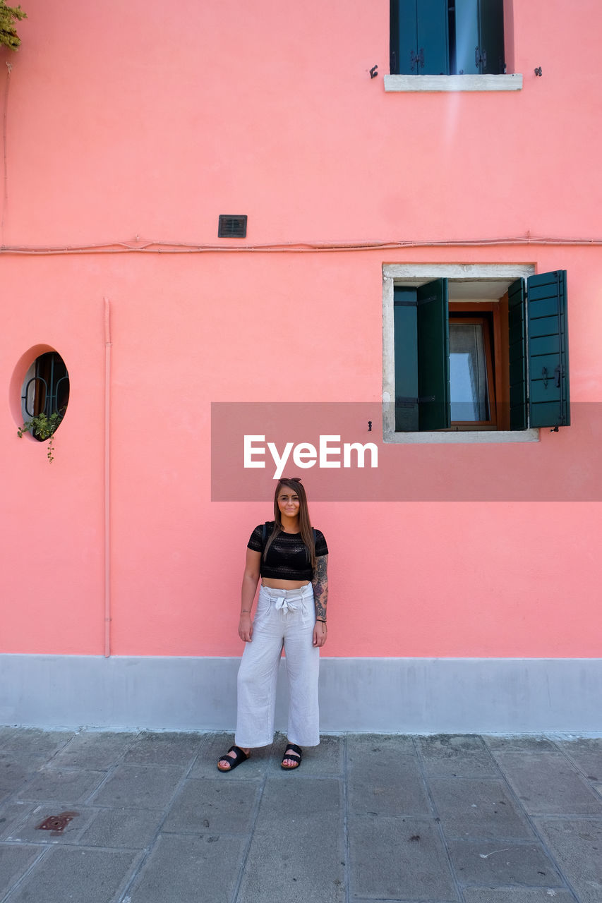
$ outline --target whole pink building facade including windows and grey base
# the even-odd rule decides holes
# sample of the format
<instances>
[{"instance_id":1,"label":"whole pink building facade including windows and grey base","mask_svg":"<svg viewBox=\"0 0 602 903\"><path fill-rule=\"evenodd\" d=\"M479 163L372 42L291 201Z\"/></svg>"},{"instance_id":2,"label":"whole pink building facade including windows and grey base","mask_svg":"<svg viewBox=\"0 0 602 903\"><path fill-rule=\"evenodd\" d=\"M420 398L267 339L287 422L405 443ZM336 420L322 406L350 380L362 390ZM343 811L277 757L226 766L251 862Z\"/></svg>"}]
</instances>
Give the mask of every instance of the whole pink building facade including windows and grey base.
<instances>
[{"instance_id":1,"label":"whole pink building facade including windows and grey base","mask_svg":"<svg viewBox=\"0 0 602 903\"><path fill-rule=\"evenodd\" d=\"M1 722L233 726L272 442L330 549L323 730L602 730L602 14L493 7L25 6Z\"/></svg>"}]
</instances>

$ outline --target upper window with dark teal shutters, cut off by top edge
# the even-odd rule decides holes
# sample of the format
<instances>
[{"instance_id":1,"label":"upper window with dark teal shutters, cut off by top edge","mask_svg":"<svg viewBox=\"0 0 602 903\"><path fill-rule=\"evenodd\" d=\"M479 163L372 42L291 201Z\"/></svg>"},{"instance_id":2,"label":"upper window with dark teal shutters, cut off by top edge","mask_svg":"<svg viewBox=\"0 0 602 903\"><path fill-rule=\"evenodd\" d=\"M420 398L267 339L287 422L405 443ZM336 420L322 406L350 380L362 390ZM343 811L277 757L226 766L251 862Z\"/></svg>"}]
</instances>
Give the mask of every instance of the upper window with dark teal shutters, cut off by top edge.
<instances>
[{"instance_id":1,"label":"upper window with dark teal shutters, cut off by top edge","mask_svg":"<svg viewBox=\"0 0 602 903\"><path fill-rule=\"evenodd\" d=\"M390 72L502 75L503 0L390 0Z\"/></svg>"}]
</instances>

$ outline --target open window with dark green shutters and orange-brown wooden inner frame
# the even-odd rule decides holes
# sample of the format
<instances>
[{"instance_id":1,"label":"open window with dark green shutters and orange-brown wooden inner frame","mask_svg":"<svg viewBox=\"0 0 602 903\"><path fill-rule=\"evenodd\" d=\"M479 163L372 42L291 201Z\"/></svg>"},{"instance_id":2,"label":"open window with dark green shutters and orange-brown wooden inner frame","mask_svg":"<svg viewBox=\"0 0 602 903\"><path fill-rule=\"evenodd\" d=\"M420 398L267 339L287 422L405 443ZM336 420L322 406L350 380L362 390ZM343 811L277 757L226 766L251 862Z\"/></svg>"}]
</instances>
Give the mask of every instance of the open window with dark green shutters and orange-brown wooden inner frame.
<instances>
[{"instance_id":1,"label":"open window with dark green shutters and orange-brown wooden inner frame","mask_svg":"<svg viewBox=\"0 0 602 903\"><path fill-rule=\"evenodd\" d=\"M395 432L566 426L567 275L393 286Z\"/></svg>"}]
</instances>

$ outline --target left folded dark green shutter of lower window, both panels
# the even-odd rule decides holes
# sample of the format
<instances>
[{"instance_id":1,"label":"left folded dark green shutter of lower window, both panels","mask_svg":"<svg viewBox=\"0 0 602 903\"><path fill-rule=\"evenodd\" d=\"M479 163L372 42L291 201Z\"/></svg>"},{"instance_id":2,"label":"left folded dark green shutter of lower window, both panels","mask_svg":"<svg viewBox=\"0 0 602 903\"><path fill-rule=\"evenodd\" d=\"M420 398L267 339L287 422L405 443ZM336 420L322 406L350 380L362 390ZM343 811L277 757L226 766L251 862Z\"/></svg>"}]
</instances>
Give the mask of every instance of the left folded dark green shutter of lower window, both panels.
<instances>
[{"instance_id":1,"label":"left folded dark green shutter of lower window, both panels","mask_svg":"<svg viewBox=\"0 0 602 903\"><path fill-rule=\"evenodd\" d=\"M419 289L395 286L395 429L450 424L447 279Z\"/></svg>"}]
</instances>

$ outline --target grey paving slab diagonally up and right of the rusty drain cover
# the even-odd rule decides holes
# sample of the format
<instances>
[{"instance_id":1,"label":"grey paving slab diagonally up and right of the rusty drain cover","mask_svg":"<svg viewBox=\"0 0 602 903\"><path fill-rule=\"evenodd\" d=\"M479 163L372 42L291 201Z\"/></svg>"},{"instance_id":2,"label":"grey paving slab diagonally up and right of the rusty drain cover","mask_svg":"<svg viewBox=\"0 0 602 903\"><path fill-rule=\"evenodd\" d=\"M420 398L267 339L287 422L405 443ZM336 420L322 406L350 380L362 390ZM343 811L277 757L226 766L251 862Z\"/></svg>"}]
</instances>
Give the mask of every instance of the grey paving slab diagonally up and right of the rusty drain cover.
<instances>
[{"instance_id":1,"label":"grey paving slab diagonally up and right of the rusty drain cover","mask_svg":"<svg viewBox=\"0 0 602 903\"><path fill-rule=\"evenodd\" d=\"M170 802L184 771L183 767L173 765L118 765L90 802L159 809Z\"/></svg>"}]
</instances>

